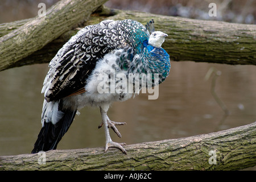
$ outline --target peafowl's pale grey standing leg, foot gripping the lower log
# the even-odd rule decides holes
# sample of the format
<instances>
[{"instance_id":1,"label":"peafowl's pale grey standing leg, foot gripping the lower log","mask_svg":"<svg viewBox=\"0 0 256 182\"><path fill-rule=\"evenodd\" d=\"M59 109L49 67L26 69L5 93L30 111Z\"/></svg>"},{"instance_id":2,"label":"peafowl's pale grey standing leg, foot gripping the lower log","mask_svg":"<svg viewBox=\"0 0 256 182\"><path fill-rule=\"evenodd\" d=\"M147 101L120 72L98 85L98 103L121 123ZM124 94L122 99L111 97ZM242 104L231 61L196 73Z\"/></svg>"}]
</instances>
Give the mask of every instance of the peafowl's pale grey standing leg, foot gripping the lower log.
<instances>
[{"instance_id":1,"label":"peafowl's pale grey standing leg, foot gripping the lower log","mask_svg":"<svg viewBox=\"0 0 256 182\"><path fill-rule=\"evenodd\" d=\"M110 138L110 134L109 134L109 122L108 122L108 115L106 114L106 110L102 109L102 107L100 107L101 110L101 116L102 116L102 125L104 125L104 130L105 130L105 137L106 137L106 146L105 146L105 152L108 150L109 147L115 147L115 148L119 148L119 150L121 150L123 152L123 154L127 154L125 148L123 148L121 145L126 145L126 143L116 143L113 142L112 139ZM111 122L110 122L111 123ZM102 126L101 125L101 126ZM114 125L114 124L113 124ZM110 126L111 127L111 126ZM115 127L115 126L114 126ZM114 129L113 129L114 130ZM118 130L117 130L118 132ZM119 132L118 132L119 133ZM119 133L120 134L120 133Z\"/></svg>"}]
</instances>

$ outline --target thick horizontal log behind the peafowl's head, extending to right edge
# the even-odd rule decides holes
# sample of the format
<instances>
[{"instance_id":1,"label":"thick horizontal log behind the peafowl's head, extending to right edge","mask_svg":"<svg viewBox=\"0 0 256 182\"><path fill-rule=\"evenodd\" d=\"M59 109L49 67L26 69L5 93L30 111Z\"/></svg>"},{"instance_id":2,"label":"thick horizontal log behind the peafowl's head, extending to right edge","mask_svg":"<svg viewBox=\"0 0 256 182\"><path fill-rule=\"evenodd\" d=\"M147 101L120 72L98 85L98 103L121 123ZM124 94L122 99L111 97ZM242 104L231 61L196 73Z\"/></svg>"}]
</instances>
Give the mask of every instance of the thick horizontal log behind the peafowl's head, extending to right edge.
<instances>
[{"instance_id":1,"label":"thick horizontal log behind the peafowl's head, extending to right edge","mask_svg":"<svg viewBox=\"0 0 256 182\"><path fill-rule=\"evenodd\" d=\"M163 48L175 61L256 65L256 25L122 11L111 19L155 20L168 34Z\"/></svg>"}]
</instances>

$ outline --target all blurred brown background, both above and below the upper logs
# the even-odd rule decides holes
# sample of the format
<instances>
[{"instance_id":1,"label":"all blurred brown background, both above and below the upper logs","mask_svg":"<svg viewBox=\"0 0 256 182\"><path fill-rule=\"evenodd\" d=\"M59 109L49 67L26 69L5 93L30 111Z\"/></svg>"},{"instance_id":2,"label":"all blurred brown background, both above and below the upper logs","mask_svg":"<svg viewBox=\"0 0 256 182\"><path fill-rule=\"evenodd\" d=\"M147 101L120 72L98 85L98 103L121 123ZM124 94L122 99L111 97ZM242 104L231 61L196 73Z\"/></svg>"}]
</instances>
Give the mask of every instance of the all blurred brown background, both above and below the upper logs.
<instances>
[{"instance_id":1,"label":"all blurred brown background, both above and below the upper logs","mask_svg":"<svg viewBox=\"0 0 256 182\"><path fill-rule=\"evenodd\" d=\"M38 3L48 9L56 0L0 0L0 23L32 18L38 14ZM214 1L217 16L209 17L210 1L110 0L106 6L123 10L146 11L186 18L222 20L234 23L256 22L256 1ZM150 19L150 18L148 18ZM50 60L49 60L50 61ZM112 131L115 142L127 144L175 139L212 133L256 121L256 67L172 61L170 76L159 86L159 98L148 100L140 94L129 101L114 103L109 109L112 121L122 138ZM212 95L214 74L205 80L209 69L221 75L214 88L228 115ZM41 128L43 105L41 94L48 64L36 64L0 72L0 156L30 153ZM85 107L58 149L103 147L105 134L98 129L100 110ZM103 148L102 148L103 150ZM209 149L210 150L210 149Z\"/></svg>"}]
</instances>

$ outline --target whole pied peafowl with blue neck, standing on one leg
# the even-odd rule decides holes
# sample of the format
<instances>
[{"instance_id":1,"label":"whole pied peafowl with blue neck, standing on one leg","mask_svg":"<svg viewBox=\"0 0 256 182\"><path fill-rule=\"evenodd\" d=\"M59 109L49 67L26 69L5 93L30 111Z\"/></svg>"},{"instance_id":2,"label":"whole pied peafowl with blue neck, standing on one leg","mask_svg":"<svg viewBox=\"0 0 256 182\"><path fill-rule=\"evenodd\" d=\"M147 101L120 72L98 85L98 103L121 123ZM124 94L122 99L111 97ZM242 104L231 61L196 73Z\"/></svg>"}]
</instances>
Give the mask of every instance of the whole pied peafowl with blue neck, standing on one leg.
<instances>
[{"instance_id":1,"label":"whole pied peafowl with blue neck, standing on one leg","mask_svg":"<svg viewBox=\"0 0 256 182\"><path fill-rule=\"evenodd\" d=\"M136 20L103 20L82 28L49 63L43 82L42 129L32 153L55 150L79 109L100 107L106 145L113 142L109 127L121 137L107 115L110 104L126 101L142 88L162 83L170 73L170 56L161 47L167 34L155 31L154 20L145 26Z\"/></svg>"}]
</instances>

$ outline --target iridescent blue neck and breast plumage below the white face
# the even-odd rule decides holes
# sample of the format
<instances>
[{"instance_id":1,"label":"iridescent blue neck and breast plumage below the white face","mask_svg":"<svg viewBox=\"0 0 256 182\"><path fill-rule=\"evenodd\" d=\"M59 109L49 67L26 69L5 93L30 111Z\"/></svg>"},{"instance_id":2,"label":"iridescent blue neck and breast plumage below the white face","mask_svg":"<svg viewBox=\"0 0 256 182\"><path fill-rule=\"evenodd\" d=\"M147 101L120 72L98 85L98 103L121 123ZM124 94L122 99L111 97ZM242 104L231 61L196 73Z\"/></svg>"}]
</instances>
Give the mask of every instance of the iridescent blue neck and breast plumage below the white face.
<instances>
[{"instance_id":1,"label":"iridescent blue neck and breast plumage below the white face","mask_svg":"<svg viewBox=\"0 0 256 182\"><path fill-rule=\"evenodd\" d=\"M127 73L158 73L160 84L169 75L170 56L163 48L149 45L148 38L146 31L133 32L130 36L130 39L133 39L133 48L127 48L117 64Z\"/></svg>"}]
</instances>

